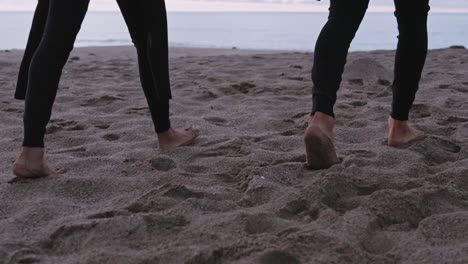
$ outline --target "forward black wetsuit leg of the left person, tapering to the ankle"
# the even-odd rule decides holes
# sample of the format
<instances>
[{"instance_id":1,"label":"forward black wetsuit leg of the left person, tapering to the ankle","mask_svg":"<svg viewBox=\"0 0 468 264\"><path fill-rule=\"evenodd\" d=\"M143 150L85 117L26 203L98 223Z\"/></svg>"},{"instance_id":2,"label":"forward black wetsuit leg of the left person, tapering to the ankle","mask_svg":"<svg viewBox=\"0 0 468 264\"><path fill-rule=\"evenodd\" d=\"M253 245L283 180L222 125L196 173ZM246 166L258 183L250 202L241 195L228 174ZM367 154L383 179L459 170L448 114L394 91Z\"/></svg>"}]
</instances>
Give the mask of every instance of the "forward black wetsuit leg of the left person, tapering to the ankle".
<instances>
[{"instance_id":1,"label":"forward black wetsuit leg of the left person, tapering to the ankle","mask_svg":"<svg viewBox=\"0 0 468 264\"><path fill-rule=\"evenodd\" d=\"M117 0L138 54L140 80L155 131L171 128L169 48L164 1Z\"/></svg>"}]
</instances>

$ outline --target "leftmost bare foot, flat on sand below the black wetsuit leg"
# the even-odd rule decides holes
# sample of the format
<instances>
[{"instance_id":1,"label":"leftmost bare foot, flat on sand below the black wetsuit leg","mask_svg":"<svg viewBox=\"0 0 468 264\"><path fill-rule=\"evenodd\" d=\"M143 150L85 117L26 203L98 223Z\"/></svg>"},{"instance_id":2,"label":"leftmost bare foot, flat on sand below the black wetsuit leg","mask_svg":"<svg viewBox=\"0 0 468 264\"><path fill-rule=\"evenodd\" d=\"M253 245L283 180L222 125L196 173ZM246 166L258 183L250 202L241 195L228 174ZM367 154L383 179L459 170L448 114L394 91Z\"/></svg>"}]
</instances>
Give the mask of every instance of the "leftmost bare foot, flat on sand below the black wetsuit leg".
<instances>
[{"instance_id":1,"label":"leftmost bare foot, flat on sand below the black wetsuit leg","mask_svg":"<svg viewBox=\"0 0 468 264\"><path fill-rule=\"evenodd\" d=\"M20 156L13 165L13 174L20 178L41 178L63 172L49 168L44 159L43 148L23 147Z\"/></svg>"}]
</instances>

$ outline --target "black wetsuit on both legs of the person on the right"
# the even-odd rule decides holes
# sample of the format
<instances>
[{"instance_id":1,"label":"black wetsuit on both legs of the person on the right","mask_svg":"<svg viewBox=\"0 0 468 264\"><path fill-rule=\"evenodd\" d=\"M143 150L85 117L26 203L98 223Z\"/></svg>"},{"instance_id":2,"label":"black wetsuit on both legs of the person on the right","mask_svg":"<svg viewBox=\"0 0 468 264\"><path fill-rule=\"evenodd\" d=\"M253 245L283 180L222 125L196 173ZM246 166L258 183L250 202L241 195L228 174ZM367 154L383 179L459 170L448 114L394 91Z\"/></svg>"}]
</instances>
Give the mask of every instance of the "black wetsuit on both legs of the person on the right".
<instances>
[{"instance_id":1,"label":"black wetsuit on both legs of the person on the right","mask_svg":"<svg viewBox=\"0 0 468 264\"><path fill-rule=\"evenodd\" d=\"M334 117L348 49L369 0L330 0L330 14L315 47L313 109ZM406 121L419 88L427 55L429 0L394 0L398 21L391 116Z\"/></svg>"}]
</instances>

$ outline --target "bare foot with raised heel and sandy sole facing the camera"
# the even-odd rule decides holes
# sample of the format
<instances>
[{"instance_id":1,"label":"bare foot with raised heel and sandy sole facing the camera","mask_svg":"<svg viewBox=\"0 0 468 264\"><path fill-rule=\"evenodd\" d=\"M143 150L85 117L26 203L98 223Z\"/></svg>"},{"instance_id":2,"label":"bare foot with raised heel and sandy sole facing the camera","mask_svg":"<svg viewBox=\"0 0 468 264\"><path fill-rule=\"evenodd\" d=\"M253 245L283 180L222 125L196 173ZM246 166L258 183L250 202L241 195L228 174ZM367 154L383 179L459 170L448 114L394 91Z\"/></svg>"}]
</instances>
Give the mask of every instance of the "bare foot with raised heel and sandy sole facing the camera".
<instances>
[{"instance_id":1,"label":"bare foot with raised heel and sandy sole facing the camera","mask_svg":"<svg viewBox=\"0 0 468 264\"><path fill-rule=\"evenodd\" d=\"M317 112L309 120L304 135L307 166L310 169L328 169L340 162L333 145L334 119Z\"/></svg>"}]
</instances>

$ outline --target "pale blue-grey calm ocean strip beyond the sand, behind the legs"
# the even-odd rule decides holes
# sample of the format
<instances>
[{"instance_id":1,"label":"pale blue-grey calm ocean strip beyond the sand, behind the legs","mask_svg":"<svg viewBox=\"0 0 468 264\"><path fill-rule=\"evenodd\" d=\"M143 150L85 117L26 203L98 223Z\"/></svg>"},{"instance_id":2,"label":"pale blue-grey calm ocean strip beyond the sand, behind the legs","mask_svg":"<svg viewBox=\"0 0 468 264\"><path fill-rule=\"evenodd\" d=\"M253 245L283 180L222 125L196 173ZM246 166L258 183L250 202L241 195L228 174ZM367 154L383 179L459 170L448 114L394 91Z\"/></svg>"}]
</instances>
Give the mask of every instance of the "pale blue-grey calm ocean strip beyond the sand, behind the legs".
<instances>
[{"instance_id":1,"label":"pale blue-grey calm ocean strip beyond the sand, behind the legs","mask_svg":"<svg viewBox=\"0 0 468 264\"><path fill-rule=\"evenodd\" d=\"M0 12L0 49L23 49L32 12ZM170 12L169 42L174 47L311 51L326 13ZM353 51L395 49L392 13L368 13L351 46ZM468 46L468 14L433 13L431 49ZM131 44L118 12L89 12L75 46Z\"/></svg>"}]
</instances>

